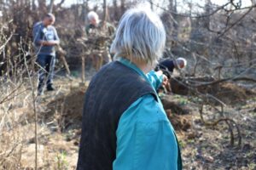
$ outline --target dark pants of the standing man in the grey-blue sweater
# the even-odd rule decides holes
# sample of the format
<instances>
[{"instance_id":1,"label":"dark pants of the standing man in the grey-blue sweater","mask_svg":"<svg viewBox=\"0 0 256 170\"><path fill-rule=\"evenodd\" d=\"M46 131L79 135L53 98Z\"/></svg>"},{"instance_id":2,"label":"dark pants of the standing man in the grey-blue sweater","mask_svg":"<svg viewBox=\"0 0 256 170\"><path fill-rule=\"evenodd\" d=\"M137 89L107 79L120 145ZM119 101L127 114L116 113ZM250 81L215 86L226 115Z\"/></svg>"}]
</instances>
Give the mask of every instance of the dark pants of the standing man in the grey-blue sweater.
<instances>
[{"instance_id":1,"label":"dark pants of the standing man in the grey-blue sweater","mask_svg":"<svg viewBox=\"0 0 256 170\"><path fill-rule=\"evenodd\" d=\"M39 54L37 63L40 65L38 74L38 92L42 92L45 82L48 87L52 85L55 70L55 56Z\"/></svg>"}]
</instances>

